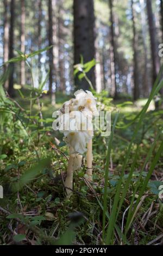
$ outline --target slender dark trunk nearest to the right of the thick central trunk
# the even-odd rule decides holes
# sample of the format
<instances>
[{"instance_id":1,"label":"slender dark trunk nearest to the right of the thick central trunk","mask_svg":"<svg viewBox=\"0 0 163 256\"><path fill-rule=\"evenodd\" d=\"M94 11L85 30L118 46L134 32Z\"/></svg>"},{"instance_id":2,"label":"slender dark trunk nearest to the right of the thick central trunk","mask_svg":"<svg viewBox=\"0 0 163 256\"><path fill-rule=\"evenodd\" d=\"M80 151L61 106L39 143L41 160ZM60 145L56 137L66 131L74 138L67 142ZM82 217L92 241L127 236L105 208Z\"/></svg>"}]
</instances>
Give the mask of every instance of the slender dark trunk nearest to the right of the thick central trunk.
<instances>
[{"instance_id":1,"label":"slender dark trunk nearest to the right of the thick central trunk","mask_svg":"<svg viewBox=\"0 0 163 256\"><path fill-rule=\"evenodd\" d=\"M116 84L116 64L115 64L115 40L114 40L114 17L112 12L112 0L109 0L110 8L110 66L111 66L111 84L112 96L117 99L117 84Z\"/></svg>"}]
</instances>

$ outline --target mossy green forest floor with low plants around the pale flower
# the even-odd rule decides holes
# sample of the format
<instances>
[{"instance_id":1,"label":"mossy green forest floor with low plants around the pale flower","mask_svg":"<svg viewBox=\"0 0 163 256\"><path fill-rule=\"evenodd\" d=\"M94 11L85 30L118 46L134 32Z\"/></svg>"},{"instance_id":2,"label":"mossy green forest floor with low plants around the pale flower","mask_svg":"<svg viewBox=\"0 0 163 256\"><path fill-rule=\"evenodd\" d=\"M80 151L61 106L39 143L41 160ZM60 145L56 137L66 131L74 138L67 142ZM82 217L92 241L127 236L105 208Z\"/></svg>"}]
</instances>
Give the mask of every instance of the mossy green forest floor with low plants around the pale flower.
<instances>
[{"instance_id":1,"label":"mossy green forest floor with low plants around the pale flower","mask_svg":"<svg viewBox=\"0 0 163 256\"><path fill-rule=\"evenodd\" d=\"M85 161L83 161L82 168L74 172L73 194L67 199L63 181L66 177L68 151L66 145L62 143L62 134L52 130L52 113L55 109L59 109L67 99L67 97L57 95L57 104L54 108L48 97L43 97L41 99L43 119L39 117L39 108L35 102L31 121L29 121L27 116L30 104L18 98L16 101L23 109L11 104L10 109L16 114L7 114L5 124L1 124L1 129L4 131L1 132L0 138L0 180L4 189L4 198L0 199L1 245L68 245L71 243L99 245L105 243L102 237L102 205L108 137L101 137L99 132L95 134L93 138L93 181L87 180ZM118 180L120 180L122 166L137 121L124 129L120 127L134 120L147 100L139 100L133 105L131 102L112 102L108 97L101 95L98 96L98 101L101 102L99 104L101 108L112 112L112 123L115 113L120 111L117 122L119 128L115 129L112 141L107 185L107 210L111 214ZM122 177L121 190L126 186L133 169L130 184L116 220L116 225L123 234L135 186L139 183L134 195L136 200L162 141L161 133L155 142L162 124L163 111L154 111L152 102L131 145ZM154 142L151 157L146 162L139 179L141 168ZM138 144L139 150L135 160ZM41 159L39 163L38 156ZM140 203L133 214L133 222L125 234L126 242L123 241L117 229L114 229L110 243L114 245L163 244L163 205L159 198L159 186L163 185L162 160L163 155L156 162ZM122 193L120 193L121 198ZM106 218L105 230L109 226L108 223Z\"/></svg>"}]
</instances>

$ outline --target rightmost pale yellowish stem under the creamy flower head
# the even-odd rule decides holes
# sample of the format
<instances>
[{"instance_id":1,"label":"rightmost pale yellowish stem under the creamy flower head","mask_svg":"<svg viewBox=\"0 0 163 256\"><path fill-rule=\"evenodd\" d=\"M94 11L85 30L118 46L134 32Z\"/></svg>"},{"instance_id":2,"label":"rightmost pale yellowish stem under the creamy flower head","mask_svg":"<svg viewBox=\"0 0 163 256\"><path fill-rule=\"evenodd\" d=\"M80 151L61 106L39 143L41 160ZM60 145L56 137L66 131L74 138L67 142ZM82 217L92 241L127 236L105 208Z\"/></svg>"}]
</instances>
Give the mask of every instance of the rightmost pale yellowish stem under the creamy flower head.
<instances>
[{"instance_id":1,"label":"rightmost pale yellowish stem under the creamy flower head","mask_svg":"<svg viewBox=\"0 0 163 256\"><path fill-rule=\"evenodd\" d=\"M87 143L87 170L86 174L88 175L88 179L92 181L92 139L90 139L89 143Z\"/></svg>"}]
</instances>

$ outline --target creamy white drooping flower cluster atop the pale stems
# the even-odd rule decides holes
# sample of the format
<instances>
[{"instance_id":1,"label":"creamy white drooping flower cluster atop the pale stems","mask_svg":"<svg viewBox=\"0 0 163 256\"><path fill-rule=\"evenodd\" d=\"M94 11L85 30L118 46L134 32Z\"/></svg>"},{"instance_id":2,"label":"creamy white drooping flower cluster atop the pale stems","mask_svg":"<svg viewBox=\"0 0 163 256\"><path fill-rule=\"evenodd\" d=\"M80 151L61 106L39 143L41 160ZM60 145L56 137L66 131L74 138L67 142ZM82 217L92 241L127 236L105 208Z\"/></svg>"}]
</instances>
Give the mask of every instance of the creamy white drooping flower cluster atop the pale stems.
<instances>
[{"instance_id":1,"label":"creamy white drooping flower cluster atop the pale stems","mask_svg":"<svg viewBox=\"0 0 163 256\"><path fill-rule=\"evenodd\" d=\"M97 115L96 99L89 91L78 90L74 93L75 99L66 101L57 119L58 130L65 136L65 142L71 153L83 154L86 144L93 137L92 116ZM67 109L68 108L68 113Z\"/></svg>"}]
</instances>

